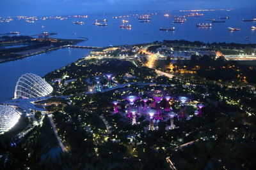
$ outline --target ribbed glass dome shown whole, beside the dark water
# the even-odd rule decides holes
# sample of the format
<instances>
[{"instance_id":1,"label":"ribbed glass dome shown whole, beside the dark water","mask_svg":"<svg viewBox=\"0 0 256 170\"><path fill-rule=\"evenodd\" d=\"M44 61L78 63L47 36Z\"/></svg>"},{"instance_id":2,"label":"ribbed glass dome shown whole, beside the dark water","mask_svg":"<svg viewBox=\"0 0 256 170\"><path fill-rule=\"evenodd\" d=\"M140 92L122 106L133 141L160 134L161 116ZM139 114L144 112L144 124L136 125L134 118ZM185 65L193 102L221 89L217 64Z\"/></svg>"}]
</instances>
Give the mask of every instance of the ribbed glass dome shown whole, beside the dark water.
<instances>
[{"instance_id":1,"label":"ribbed glass dome shown whole, beside the dark water","mask_svg":"<svg viewBox=\"0 0 256 170\"><path fill-rule=\"evenodd\" d=\"M23 74L17 81L14 99L43 97L51 94L52 87L40 76L33 73Z\"/></svg>"}]
</instances>

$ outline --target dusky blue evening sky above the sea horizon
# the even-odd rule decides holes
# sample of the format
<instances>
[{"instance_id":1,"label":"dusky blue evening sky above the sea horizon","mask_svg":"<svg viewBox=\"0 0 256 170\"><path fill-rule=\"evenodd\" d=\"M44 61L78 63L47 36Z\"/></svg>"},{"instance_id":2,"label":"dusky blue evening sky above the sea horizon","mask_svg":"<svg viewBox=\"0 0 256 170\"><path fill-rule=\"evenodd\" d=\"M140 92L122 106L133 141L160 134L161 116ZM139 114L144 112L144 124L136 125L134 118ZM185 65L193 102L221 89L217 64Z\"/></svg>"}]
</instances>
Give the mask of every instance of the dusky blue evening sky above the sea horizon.
<instances>
[{"instance_id":1,"label":"dusky blue evening sky above the sea horizon","mask_svg":"<svg viewBox=\"0 0 256 170\"><path fill-rule=\"evenodd\" d=\"M195 10L252 6L256 6L256 0L0 0L0 15L72 15L109 11Z\"/></svg>"}]
</instances>

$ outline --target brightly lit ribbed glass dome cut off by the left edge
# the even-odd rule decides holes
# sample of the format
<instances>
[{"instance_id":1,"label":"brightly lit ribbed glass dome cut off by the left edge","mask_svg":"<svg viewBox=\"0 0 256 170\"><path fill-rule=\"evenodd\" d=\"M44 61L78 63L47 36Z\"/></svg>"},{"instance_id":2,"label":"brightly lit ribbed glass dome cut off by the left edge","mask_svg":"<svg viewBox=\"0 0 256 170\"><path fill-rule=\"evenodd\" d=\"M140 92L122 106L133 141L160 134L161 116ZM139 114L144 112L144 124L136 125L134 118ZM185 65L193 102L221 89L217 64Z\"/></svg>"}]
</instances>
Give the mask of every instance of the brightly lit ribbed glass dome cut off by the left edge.
<instances>
[{"instance_id":1,"label":"brightly lit ribbed glass dome cut off by the left edge","mask_svg":"<svg viewBox=\"0 0 256 170\"><path fill-rule=\"evenodd\" d=\"M0 105L0 134L10 130L19 121L20 113L11 106Z\"/></svg>"}]
</instances>

